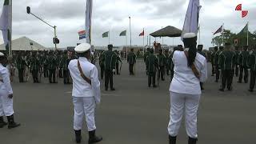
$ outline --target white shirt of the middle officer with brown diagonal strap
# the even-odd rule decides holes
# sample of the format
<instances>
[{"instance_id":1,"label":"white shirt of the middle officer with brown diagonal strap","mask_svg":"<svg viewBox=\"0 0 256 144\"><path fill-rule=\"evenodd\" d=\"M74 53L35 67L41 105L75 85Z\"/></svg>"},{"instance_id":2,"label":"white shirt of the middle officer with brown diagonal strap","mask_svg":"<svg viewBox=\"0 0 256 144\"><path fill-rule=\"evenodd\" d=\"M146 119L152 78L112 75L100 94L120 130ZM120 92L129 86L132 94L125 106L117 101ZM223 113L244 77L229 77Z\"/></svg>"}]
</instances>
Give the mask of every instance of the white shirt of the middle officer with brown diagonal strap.
<instances>
[{"instance_id":1,"label":"white shirt of the middle officer with brown diagonal strap","mask_svg":"<svg viewBox=\"0 0 256 144\"><path fill-rule=\"evenodd\" d=\"M91 80L91 85L84 80L78 70L78 60L83 74ZM97 67L91 64L87 58L78 58L70 61L69 70L73 79L73 97L94 97L99 103L101 99L100 82L98 80Z\"/></svg>"}]
</instances>

